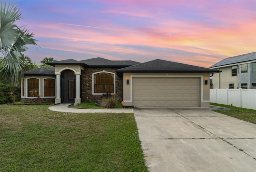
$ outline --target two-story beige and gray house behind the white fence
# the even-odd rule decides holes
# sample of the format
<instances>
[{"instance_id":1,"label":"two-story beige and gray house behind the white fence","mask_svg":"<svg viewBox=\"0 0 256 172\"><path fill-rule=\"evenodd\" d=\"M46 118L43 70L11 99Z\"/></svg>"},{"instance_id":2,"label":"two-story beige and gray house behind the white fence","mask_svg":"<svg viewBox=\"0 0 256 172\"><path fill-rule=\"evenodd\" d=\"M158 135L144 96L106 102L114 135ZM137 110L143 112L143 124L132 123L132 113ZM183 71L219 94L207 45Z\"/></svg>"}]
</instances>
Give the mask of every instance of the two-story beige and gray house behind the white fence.
<instances>
[{"instance_id":1,"label":"two-story beige and gray house behind the white fence","mask_svg":"<svg viewBox=\"0 0 256 172\"><path fill-rule=\"evenodd\" d=\"M212 76L213 88L256 89L256 52L225 58L210 69L222 70Z\"/></svg>"}]
</instances>

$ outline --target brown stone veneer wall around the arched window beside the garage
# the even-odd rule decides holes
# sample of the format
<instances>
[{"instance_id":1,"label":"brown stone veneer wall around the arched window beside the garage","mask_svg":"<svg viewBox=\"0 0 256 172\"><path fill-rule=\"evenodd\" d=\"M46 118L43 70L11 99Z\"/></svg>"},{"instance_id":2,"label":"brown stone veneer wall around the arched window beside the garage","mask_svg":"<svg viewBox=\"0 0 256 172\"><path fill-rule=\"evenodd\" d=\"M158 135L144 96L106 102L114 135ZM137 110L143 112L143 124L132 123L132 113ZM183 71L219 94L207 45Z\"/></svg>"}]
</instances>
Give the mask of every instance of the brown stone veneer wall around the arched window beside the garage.
<instances>
[{"instance_id":1,"label":"brown stone veneer wall around the arched window beside the garage","mask_svg":"<svg viewBox=\"0 0 256 172\"><path fill-rule=\"evenodd\" d=\"M92 95L92 74L95 72L101 72L105 70L106 72L113 72L116 74L115 70L120 68L84 68L82 70L82 102L100 102L102 99L102 95ZM117 76L116 74L116 95L120 97L120 101L122 101L123 94L123 86L122 86L122 78ZM88 98L87 98L88 97Z\"/></svg>"}]
</instances>

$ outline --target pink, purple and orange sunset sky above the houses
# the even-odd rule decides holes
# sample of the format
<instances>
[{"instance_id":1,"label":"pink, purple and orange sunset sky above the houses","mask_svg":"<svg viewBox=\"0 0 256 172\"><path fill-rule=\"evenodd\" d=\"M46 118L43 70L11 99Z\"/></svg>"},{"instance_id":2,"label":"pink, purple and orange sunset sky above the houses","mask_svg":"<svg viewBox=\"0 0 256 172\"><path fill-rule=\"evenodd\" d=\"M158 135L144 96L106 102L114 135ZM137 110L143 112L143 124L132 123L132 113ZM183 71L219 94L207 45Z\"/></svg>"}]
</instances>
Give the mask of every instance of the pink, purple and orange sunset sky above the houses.
<instances>
[{"instance_id":1,"label":"pink, purple and orange sunset sky above the houses","mask_svg":"<svg viewBox=\"0 0 256 172\"><path fill-rule=\"evenodd\" d=\"M256 51L255 0L12 0L32 61L163 59L210 67Z\"/></svg>"}]
</instances>

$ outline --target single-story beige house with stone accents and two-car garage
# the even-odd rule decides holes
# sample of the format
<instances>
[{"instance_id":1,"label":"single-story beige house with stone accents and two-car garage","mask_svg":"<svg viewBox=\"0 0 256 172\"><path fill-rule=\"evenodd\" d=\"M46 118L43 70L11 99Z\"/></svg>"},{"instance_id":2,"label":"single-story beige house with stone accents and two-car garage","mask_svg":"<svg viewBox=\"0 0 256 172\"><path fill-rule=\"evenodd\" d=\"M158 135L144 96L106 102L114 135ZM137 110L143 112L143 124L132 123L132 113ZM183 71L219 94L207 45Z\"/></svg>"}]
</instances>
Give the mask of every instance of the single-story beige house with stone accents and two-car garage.
<instances>
[{"instance_id":1,"label":"single-story beige house with stone accents and two-car garage","mask_svg":"<svg viewBox=\"0 0 256 172\"><path fill-rule=\"evenodd\" d=\"M22 102L100 102L102 94L111 93L125 106L208 107L209 76L220 72L159 59L145 63L69 59L48 64L54 68L24 72ZM38 97L31 94L34 89Z\"/></svg>"}]
</instances>

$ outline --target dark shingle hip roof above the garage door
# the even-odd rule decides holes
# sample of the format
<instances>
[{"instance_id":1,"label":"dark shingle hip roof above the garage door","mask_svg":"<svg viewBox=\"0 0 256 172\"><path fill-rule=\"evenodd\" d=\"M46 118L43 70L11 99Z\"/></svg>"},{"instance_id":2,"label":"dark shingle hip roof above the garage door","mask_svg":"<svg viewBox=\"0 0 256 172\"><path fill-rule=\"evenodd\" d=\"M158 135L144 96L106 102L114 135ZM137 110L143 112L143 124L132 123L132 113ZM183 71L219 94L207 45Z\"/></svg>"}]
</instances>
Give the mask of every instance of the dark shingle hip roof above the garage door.
<instances>
[{"instance_id":1,"label":"dark shingle hip roof above the garage door","mask_svg":"<svg viewBox=\"0 0 256 172\"><path fill-rule=\"evenodd\" d=\"M149 62L136 64L134 66L129 66L126 68L118 69L116 72L147 72L147 73L211 73L211 72L220 72L219 70L213 70L209 68L203 68L199 66L192 66L188 64L182 64L177 62L170 62L166 60L152 60Z\"/></svg>"}]
</instances>

